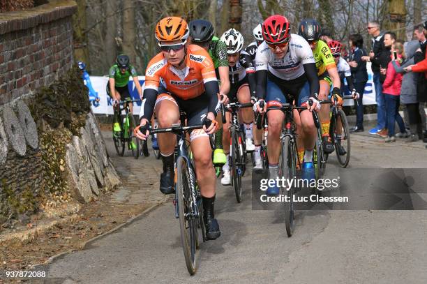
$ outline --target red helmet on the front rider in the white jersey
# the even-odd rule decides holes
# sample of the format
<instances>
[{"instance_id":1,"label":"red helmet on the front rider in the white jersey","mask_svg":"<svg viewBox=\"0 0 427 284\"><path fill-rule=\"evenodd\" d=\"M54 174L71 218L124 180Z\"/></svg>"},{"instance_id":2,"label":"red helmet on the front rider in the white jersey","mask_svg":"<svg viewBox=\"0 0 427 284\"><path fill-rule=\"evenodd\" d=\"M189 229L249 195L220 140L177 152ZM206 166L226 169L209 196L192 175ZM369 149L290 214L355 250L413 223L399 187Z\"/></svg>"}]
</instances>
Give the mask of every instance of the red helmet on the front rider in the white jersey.
<instances>
[{"instance_id":1,"label":"red helmet on the front rider in the white jersey","mask_svg":"<svg viewBox=\"0 0 427 284\"><path fill-rule=\"evenodd\" d=\"M282 15L267 17L262 23L262 37L267 43L285 43L290 39L290 23Z\"/></svg>"}]
</instances>

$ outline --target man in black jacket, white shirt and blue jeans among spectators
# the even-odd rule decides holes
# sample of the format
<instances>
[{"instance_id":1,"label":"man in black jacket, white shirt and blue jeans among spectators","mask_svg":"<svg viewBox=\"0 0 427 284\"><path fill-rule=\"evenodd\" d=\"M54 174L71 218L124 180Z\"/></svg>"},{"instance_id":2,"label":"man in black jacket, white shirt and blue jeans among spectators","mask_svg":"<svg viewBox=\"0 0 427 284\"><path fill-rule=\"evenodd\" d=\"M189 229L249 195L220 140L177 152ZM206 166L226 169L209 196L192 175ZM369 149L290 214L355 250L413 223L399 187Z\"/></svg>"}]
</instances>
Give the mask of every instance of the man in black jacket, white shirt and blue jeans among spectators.
<instances>
[{"instance_id":1,"label":"man in black jacket, white shirt and blue jeans among spectators","mask_svg":"<svg viewBox=\"0 0 427 284\"><path fill-rule=\"evenodd\" d=\"M372 50L369 56L362 57L362 60L373 61L382 57L382 53L386 50L384 47L384 34L380 31L380 23L376 21L369 22L367 29L368 33L373 36ZM377 102L377 127L369 130L369 134L379 134L386 127L385 99L384 94L382 94L382 83L380 82L380 64L377 61L372 62L371 68L375 87L375 101Z\"/></svg>"}]
</instances>

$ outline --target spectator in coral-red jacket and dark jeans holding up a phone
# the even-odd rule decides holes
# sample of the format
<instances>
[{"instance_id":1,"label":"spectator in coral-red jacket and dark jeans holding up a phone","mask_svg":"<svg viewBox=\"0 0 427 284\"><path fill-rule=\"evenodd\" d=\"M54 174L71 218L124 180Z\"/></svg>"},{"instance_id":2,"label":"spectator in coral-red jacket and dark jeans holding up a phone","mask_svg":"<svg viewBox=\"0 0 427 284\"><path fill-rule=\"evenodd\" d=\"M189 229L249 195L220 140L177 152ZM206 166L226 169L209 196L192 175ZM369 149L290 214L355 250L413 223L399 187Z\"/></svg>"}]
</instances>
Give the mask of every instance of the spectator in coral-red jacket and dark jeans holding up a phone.
<instances>
[{"instance_id":1,"label":"spectator in coral-red jacket and dark jeans holding up a phone","mask_svg":"<svg viewBox=\"0 0 427 284\"><path fill-rule=\"evenodd\" d=\"M384 43L386 43L387 33L384 36ZM401 43L393 43L391 46L391 52L395 52L398 57L396 63L400 66L399 61L402 60L403 57L403 45ZM391 58L390 58L391 61ZM396 137L394 135L394 128L396 122L398 123L401 135L405 135L405 124L403 123L402 117L398 112L399 110L399 97L400 97L400 89L402 87L402 78L403 75L400 73L396 73L394 70L393 64L389 62L387 66L387 71L385 75L384 83L382 84L382 91L384 93L384 98L386 102L386 113L387 113L387 130L388 137L385 142L396 142Z\"/></svg>"}]
</instances>

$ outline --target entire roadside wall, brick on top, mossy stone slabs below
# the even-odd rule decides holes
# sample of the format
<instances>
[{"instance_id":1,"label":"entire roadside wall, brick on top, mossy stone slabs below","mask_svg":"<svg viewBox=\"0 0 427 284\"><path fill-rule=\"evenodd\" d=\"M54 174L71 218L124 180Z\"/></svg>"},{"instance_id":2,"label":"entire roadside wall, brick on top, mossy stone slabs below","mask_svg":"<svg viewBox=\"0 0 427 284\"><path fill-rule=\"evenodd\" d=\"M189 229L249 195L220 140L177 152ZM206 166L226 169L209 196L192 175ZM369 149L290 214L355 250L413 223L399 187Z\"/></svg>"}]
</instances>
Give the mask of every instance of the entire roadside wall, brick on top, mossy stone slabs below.
<instances>
[{"instance_id":1,"label":"entire roadside wall, brick on top, mossy stone slabs below","mask_svg":"<svg viewBox=\"0 0 427 284\"><path fill-rule=\"evenodd\" d=\"M120 184L73 66L73 10L60 0L0 14L0 232Z\"/></svg>"}]
</instances>

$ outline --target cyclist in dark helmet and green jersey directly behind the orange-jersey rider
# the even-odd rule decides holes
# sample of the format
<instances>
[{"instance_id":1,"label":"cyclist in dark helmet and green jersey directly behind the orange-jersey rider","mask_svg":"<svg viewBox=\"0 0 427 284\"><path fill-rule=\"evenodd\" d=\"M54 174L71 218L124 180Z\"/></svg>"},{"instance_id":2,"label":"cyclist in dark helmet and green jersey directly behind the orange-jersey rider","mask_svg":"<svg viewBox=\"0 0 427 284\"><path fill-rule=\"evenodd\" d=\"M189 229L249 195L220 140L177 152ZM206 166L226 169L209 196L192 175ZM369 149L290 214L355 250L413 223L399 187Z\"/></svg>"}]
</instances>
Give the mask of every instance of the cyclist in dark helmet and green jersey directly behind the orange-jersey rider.
<instances>
[{"instance_id":1,"label":"cyclist in dark helmet and green jersey directly behind the orange-jersey rider","mask_svg":"<svg viewBox=\"0 0 427 284\"><path fill-rule=\"evenodd\" d=\"M220 81L221 103L228 103L227 94L230 91L230 78L228 76L227 46L219 38L213 36L213 25L207 20L193 20L188 24L188 27L190 28L190 44L199 45L209 52L215 66L216 77ZM213 151L213 164L222 166L227 158L223 149L223 126L220 117L217 117L217 121L220 126L215 133L216 149Z\"/></svg>"}]
</instances>

